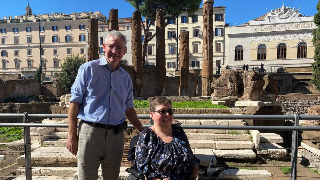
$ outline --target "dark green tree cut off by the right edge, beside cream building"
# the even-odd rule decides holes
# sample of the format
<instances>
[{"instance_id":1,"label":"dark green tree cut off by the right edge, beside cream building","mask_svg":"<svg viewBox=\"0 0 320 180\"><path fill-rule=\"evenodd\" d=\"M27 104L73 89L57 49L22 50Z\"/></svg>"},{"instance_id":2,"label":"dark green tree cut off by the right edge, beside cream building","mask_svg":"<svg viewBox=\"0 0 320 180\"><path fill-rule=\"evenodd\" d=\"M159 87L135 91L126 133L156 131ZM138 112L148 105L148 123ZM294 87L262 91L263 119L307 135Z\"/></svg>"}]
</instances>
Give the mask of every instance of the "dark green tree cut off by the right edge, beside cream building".
<instances>
[{"instance_id":1,"label":"dark green tree cut off by the right edge, beside cream building","mask_svg":"<svg viewBox=\"0 0 320 180\"><path fill-rule=\"evenodd\" d=\"M318 12L315 14L313 21L318 29L315 29L312 33L312 43L315 45L315 55L313 56L315 62L312 63L313 73L311 82L314 84L317 90L320 90L320 1L318 2L316 8Z\"/></svg>"}]
</instances>

